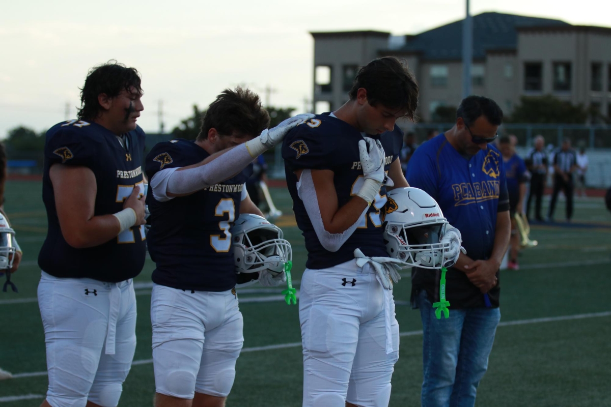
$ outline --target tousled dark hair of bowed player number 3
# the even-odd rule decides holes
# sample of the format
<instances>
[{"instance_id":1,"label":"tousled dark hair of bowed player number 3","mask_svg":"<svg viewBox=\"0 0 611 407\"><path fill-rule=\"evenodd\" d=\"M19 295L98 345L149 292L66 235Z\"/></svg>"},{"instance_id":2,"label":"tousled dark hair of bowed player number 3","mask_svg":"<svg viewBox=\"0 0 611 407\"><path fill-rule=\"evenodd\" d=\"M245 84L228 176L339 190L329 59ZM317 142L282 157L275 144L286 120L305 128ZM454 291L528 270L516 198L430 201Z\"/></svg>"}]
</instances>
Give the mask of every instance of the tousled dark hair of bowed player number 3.
<instances>
[{"instance_id":1,"label":"tousled dark hair of bowed player number 3","mask_svg":"<svg viewBox=\"0 0 611 407\"><path fill-rule=\"evenodd\" d=\"M269 113L261 106L257 93L236 87L225 89L216 96L202 119L197 140L208 139L214 128L219 135L259 135L269 126Z\"/></svg>"}]
</instances>

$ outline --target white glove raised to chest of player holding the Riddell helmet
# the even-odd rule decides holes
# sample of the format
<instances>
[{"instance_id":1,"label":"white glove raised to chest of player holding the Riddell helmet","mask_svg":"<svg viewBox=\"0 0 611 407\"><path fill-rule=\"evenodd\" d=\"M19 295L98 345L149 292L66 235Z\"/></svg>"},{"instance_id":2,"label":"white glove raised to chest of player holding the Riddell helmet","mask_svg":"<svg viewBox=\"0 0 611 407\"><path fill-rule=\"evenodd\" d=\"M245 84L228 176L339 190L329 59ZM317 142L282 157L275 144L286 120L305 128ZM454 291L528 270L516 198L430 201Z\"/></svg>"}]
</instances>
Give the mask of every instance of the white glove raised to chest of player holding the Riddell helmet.
<instances>
[{"instance_id":1,"label":"white glove raised to chest of player holding the Riddell helmet","mask_svg":"<svg viewBox=\"0 0 611 407\"><path fill-rule=\"evenodd\" d=\"M384 173L386 156L380 140L373 140L371 137L363 137L363 140L359 140L359 156L365 182L356 195L371 204L378 195L382 184L389 185L389 187L394 184L392 179L387 178Z\"/></svg>"}]
</instances>

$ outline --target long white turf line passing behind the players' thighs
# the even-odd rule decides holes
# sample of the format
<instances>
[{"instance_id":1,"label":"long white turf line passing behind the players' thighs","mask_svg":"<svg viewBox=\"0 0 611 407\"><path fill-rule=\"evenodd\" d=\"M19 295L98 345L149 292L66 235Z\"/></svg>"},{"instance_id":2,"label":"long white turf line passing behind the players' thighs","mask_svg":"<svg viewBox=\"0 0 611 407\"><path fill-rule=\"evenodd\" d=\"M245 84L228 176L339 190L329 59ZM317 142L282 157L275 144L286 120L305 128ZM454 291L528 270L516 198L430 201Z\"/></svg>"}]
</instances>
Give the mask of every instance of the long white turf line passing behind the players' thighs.
<instances>
[{"instance_id":1,"label":"long white turf line passing behind the players' thighs","mask_svg":"<svg viewBox=\"0 0 611 407\"><path fill-rule=\"evenodd\" d=\"M560 317L547 317L547 318L533 318L533 319L523 319L517 321L507 321L499 323L499 326L511 326L511 325L529 325L532 323L542 323L542 322L558 322L558 321L569 321L576 319L588 319L588 318L600 318L600 317L611 317L611 311L604 312L591 312L590 314L577 314L577 315L562 315ZM399 333L399 336L417 336L422 335L422 331L407 331ZM277 345L267 345L267 346L257 346L251 348L243 348L241 353L248 352L258 352L265 350L276 350L276 349L284 349L284 348L296 348L301 346L301 342L291 342L288 344L277 344ZM132 366L139 366L145 364L153 363L153 359L141 359L139 361L133 361ZM35 377L35 376L46 376L46 372L31 372L31 373L17 373L13 375L13 379L19 379L23 377ZM34 395L27 395L34 396ZM15 397L26 397L26 396L15 396ZM40 396L42 397L42 396ZM36 397L32 397L36 398ZM25 400L25 399L16 399L16 400ZM0 402L3 401L12 401L12 400L3 400L0 398Z\"/></svg>"}]
</instances>

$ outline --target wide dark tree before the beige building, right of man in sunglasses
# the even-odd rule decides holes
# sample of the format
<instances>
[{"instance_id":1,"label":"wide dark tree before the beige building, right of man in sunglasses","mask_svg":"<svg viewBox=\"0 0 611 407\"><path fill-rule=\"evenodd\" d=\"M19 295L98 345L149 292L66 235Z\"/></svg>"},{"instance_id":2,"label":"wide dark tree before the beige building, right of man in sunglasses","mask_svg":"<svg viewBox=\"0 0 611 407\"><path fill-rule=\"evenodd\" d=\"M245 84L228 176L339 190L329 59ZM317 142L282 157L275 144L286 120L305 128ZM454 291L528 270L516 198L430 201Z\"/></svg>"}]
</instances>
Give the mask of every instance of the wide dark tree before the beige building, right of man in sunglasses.
<instances>
[{"instance_id":1,"label":"wide dark tree before the beige building, right of man in sunglasses","mask_svg":"<svg viewBox=\"0 0 611 407\"><path fill-rule=\"evenodd\" d=\"M571 104L552 95L522 96L511 117L513 123L576 123L583 124L589 115L582 104Z\"/></svg>"}]
</instances>

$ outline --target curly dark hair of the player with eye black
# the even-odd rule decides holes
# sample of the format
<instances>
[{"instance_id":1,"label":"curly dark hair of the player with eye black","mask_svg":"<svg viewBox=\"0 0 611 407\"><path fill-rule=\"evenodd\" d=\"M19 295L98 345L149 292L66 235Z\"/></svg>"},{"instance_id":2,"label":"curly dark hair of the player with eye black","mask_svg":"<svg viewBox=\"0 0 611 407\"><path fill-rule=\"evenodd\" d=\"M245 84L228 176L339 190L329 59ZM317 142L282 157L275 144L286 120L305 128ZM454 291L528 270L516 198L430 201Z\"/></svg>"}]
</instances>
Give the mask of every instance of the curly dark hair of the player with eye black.
<instances>
[{"instance_id":1,"label":"curly dark hair of the player with eye black","mask_svg":"<svg viewBox=\"0 0 611 407\"><path fill-rule=\"evenodd\" d=\"M101 93L114 98L122 90L130 92L131 87L136 88L141 95L144 93L140 74L136 68L125 67L115 60L91 68L85 79L85 85L81 88L81 109L78 110L77 117L81 120L95 119L101 109L98 102Z\"/></svg>"}]
</instances>

